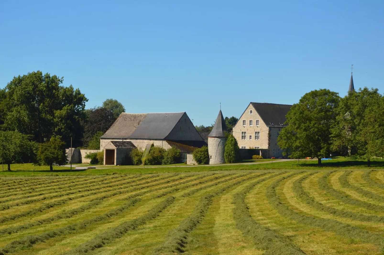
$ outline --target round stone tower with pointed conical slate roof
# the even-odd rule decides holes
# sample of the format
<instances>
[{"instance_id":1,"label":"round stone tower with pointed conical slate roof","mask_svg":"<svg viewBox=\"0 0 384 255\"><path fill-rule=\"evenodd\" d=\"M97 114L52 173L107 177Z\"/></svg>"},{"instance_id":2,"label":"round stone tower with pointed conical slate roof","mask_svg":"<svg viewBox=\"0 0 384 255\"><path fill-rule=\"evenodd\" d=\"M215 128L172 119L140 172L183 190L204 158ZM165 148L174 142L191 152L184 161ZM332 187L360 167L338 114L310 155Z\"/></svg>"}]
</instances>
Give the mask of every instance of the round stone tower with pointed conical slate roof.
<instances>
[{"instance_id":1,"label":"round stone tower with pointed conical slate roof","mask_svg":"<svg viewBox=\"0 0 384 255\"><path fill-rule=\"evenodd\" d=\"M227 126L223 118L221 110L218 113L216 122L212 131L208 135L208 153L209 153L209 164L223 164L224 150L225 150L225 134Z\"/></svg>"}]
</instances>

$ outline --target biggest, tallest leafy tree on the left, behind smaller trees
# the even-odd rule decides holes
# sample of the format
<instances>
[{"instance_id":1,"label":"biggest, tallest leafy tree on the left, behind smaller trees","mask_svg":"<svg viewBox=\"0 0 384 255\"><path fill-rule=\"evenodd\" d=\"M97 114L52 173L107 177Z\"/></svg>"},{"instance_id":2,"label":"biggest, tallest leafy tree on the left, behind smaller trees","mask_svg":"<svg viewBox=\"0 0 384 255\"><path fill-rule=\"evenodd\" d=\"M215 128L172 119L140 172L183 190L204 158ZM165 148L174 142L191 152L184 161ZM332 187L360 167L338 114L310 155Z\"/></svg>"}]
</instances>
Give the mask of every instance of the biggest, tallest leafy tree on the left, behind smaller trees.
<instances>
[{"instance_id":1,"label":"biggest, tallest leafy tree on the left, behind smaller trees","mask_svg":"<svg viewBox=\"0 0 384 255\"><path fill-rule=\"evenodd\" d=\"M41 71L13 77L3 91L5 129L31 135L40 143L57 135L81 139L80 121L88 99L72 85L62 86L63 79Z\"/></svg>"}]
</instances>

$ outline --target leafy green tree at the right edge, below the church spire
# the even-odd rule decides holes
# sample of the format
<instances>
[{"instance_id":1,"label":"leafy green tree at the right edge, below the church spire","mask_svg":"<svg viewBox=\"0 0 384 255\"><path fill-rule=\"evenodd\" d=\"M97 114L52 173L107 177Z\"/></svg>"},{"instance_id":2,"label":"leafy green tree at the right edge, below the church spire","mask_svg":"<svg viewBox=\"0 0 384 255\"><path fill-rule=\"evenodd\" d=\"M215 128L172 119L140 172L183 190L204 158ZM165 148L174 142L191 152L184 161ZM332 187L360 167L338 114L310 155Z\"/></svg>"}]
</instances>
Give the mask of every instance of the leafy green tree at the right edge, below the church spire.
<instances>
[{"instance_id":1,"label":"leafy green tree at the right edge, below the church spire","mask_svg":"<svg viewBox=\"0 0 384 255\"><path fill-rule=\"evenodd\" d=\"M367 159L381 157L383 97L377 88L349 92L336 108L332 127L332 148L342 155L358 155Z\"/></svg>"}]
</instances>

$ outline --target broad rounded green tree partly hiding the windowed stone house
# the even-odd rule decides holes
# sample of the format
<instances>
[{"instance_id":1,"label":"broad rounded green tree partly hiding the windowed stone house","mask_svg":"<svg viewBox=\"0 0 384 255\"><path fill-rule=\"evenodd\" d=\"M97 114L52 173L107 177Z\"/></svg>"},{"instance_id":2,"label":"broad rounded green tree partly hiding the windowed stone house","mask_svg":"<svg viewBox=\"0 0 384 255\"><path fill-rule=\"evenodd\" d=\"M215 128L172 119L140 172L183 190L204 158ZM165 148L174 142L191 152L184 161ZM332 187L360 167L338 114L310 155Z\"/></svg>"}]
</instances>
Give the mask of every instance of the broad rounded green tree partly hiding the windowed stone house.
<instances>
[{"instance_id":1,"label":"broad rounded green tree partly hiding the windowed stone house","mask_svg":"<svg viewBox=\"0 0 384 255\"><path fill-rule=\"evenodd\" d=\"M328 157L331 151L331 127L336 121L338 93L327 89L313 90L303 95L286 115L285 124L278 136L283 154L290 158Z\"/></svg>"}]
</instances>

